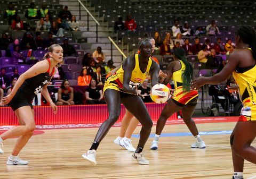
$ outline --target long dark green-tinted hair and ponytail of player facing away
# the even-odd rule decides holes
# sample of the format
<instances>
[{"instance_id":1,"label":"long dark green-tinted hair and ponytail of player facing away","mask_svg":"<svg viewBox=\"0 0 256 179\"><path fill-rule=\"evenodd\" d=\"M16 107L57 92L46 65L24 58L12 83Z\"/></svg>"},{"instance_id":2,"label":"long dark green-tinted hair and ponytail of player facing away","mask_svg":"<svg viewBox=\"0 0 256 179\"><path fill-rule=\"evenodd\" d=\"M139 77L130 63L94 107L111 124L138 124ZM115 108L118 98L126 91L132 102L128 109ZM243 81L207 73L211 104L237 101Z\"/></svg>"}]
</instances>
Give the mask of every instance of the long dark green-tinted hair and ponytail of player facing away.
<instances>
[{"instance_id":1,"label":"long dark green-tinted hair and ponytail of player facing away","mask_svg":"<svg viewBox=\"0 0 256 179\"><path fill-rule=\"evenodd\" d=\"M190 82L193 79L193 67L187 61L186 52L183 48L175 48L174 55L179 58L186 66L185 71L182 72L183 91L190 91Z\"/></svg>"}]
</instances>

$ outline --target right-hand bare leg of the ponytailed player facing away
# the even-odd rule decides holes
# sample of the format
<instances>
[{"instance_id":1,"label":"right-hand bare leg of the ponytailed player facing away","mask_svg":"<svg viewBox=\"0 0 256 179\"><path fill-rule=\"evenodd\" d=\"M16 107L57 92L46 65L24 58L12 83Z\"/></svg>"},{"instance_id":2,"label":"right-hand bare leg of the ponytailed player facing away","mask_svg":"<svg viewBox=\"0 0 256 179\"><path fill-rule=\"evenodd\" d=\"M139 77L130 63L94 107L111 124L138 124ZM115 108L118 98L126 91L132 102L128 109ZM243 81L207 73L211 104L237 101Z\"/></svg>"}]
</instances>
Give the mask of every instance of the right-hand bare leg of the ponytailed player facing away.
<instances>
[{"instance_id":1,"label":"right-hand bare leg of the ponytailed player facing away","mask_svg":"<svg viewBox=\"0 0 256 179\"><path fill-rule=\"evenodd\" d=\"M182 108L183 121L188 126L189 131L194 136L198 135L198 130L197 130L196 124L195 124L194 120L191 118L195 108L196 108L196 105L195 106L185 106Z\"/></svg>"}]
</instances>

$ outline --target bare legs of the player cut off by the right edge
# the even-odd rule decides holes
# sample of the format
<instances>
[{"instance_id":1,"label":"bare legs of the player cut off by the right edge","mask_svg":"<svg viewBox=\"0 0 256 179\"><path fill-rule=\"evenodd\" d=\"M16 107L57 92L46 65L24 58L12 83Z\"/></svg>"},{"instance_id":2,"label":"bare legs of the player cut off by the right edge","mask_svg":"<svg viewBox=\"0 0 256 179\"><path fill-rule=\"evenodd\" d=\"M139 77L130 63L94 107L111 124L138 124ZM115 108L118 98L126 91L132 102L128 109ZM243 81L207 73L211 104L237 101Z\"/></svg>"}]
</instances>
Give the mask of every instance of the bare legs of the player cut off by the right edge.
<instances>
[{"instance_id":1,"label":"bare legs of the player cut off by the right edge","mask_svg":"<svg viewBox=\"0 0 256 179\"><path fill-rule=\"evenodd\" d=\"M256 121L238 121L230 136L234 172L243 172L244 159L256 164L256 149L251 146L256 136Z\"/></svg>"}]
</instances>

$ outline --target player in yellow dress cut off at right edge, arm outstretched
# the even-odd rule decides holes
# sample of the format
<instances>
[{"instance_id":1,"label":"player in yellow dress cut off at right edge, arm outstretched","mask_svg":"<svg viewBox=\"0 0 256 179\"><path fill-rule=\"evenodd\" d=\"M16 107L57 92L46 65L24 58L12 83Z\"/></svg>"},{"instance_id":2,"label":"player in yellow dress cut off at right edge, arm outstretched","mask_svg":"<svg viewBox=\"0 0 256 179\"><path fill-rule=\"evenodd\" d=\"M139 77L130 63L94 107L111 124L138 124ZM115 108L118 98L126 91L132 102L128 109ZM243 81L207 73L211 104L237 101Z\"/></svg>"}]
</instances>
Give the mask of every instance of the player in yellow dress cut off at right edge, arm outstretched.
<instances>
[{"instance_id":1,"label":"player in yellow dress cut off at right edge, arm outstretched","mask_svg":"<svg viewBox=\"0 0 256 179\"><path fill-rule=\"evenodd\" d=\"M220 73L211 77L199 77L191 88L205 83L218 84L233 73L243 102L241 116L231 136L234 179L243 178L244 159L256 164L256 149L251 146L256 137L256 34L252 27L242 26L236 33L236 47L229 56L227 65Z\"/></svg>"}]
</instances>

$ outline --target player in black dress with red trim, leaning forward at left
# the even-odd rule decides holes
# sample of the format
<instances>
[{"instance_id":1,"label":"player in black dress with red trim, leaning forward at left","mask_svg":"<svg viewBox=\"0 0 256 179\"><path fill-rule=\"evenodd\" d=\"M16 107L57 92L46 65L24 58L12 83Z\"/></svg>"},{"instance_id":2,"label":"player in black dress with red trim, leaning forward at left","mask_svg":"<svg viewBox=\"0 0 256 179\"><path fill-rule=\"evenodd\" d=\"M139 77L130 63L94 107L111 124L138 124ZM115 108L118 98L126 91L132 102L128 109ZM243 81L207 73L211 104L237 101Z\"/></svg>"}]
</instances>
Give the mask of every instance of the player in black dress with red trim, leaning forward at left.
<instances>
[{"instance_id":1,"label":"player in black dress with red trim, leaning forward at left","mask_svg":"<svg viewBox=\"0 0 256 179\"><path fill-rule=\"evenodd\" d=\"M38 93L50 103L53 113L57 113L57 106L53 103L47 90L47 85L55 73L55 67L63 62L63 49L60 45L50 46L49 53L46 53L44 60L36 63L28 71L20 75L10 95L1 100L2 105L9 104L19 120L19 126L0 135L0 154L2 142L6 139L19 136L11 156L6 161L7 165L27 165L28 161L18 157L21 149L26 145L35 130L34 110L32 101Z\"/></svg>"}]
</instances>

